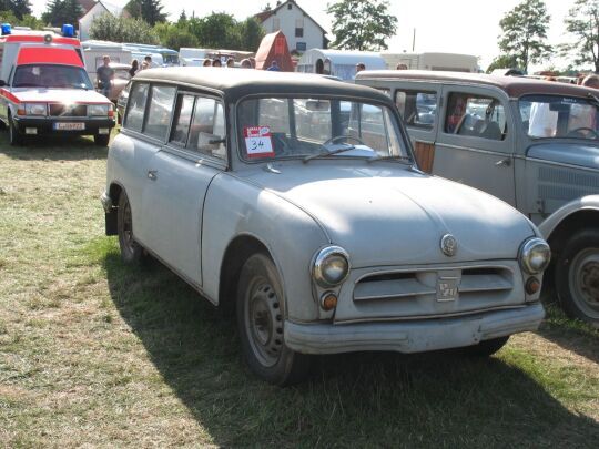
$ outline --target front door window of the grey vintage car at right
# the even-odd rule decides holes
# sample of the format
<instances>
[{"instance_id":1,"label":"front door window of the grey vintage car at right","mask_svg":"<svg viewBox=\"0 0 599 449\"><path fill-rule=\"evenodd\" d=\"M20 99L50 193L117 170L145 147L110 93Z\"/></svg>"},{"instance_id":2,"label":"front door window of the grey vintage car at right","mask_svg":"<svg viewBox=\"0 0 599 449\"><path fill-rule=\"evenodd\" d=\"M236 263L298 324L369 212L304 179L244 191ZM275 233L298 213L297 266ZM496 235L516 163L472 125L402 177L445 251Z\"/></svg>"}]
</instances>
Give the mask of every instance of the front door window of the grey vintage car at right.
<instances>
[{"instance_id":1,"label":"front door window of the grey vintage car at right","mask_svg":"<svg viewBox=\"0 0 599 449\"><path fill-rule=\"evenodd\" d=\"M502 141L507 134L504 106L497 99L490 96L450 93L445 132Z\"/></svg>"}]
</instances>

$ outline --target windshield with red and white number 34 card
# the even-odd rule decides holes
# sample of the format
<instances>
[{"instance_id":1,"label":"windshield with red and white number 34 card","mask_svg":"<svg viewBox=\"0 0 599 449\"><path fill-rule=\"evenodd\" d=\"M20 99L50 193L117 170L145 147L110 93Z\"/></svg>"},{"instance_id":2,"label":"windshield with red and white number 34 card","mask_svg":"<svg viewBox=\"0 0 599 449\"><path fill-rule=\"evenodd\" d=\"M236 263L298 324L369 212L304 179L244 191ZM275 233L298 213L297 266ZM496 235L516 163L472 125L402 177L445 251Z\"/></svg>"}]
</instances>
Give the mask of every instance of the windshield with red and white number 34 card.
<instances>
[{"instance_id":1,"label":"windshield with red and white number 34 card","mask_svg":"<svg viewBox=\"0 0 599 449\"><path fill-rule=\"evenodd\" d=\"M238 108L242 157L409 157L392 111L332 99L263 98ZM308 157L313 159L313 157Z\"/></svg>"}]
</instances>

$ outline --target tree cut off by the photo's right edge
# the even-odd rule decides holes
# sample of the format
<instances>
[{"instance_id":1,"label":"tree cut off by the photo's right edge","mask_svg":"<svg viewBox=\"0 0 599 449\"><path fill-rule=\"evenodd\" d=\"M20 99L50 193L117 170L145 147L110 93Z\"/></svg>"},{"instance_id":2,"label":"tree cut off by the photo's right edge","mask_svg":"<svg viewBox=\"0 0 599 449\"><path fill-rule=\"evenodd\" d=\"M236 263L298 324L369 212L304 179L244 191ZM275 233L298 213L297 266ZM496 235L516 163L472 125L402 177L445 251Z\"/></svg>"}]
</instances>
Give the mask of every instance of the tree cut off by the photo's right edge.
<instances>
[{"instance_id":1,"label":"tree cut off by the photo's right edge","mask_svg":"<svg viewBox=\"0 0 599 449\"><path fill-rule=\"evenodd\" d=\"M575 64L590 62L599 73L599 1L576 0L564 22L566 30L576 37L576 43L562 45L566 55L573 52Z\"/></svg>"}]
</instances>

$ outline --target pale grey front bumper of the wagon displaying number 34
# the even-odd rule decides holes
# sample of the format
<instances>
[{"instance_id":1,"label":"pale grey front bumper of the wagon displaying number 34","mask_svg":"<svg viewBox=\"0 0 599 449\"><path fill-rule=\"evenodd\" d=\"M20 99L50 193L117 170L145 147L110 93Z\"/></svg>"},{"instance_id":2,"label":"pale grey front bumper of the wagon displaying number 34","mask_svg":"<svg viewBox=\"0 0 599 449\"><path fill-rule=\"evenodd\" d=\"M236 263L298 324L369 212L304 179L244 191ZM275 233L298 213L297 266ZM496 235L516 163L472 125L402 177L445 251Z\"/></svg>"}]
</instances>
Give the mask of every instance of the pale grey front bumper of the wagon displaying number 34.
<instances>
[{"instance_id":1,"label":"pale grey front bumper of the wagon displaying number 34","mask_svg":"<svg viewBox=\"0 0 599 449\"><path fill-rule=\"evenodd\" d=\"M304 354L358 350L424 353L476 345L483 340L536 330L545 310L540 303L524 308L466 317L402 323L297 324L285 322L285 344Z\"/></svg>"}]
</instances>

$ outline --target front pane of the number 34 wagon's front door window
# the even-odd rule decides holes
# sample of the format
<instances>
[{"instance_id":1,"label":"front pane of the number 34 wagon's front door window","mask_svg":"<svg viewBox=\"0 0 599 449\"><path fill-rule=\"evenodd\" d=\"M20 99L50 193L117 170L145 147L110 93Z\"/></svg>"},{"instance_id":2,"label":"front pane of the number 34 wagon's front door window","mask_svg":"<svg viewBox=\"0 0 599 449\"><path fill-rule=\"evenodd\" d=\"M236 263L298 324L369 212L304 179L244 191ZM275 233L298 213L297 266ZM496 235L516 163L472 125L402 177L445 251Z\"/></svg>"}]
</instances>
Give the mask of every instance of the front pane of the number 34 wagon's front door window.
<instances>
[{"instance_id":1,"label":"front pane of the number 34 wagon's front door window","mask_svg":"<svg viewBox=\"0 0 599 449\"><path fill-rule=\"evenodd\" d=\"M195 99L187 149L226 159L224 111L216 100L202 96Z\"/></svg>"}]
</instances>

